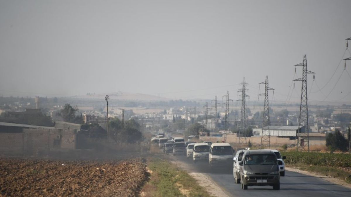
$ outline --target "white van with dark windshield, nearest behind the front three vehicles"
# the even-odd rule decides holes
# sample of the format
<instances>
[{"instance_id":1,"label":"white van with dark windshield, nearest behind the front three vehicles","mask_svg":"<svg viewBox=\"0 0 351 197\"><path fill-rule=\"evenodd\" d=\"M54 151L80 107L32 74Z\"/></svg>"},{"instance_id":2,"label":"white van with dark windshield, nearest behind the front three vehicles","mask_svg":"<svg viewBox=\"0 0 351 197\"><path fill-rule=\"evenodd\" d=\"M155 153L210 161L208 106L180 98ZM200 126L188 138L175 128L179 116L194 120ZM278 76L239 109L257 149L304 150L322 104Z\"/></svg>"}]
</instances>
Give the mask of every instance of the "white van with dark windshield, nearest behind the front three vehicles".
<instances>
[{"instance_id":1,"label":"white van with dark windshield, nearest behind the front three vehicles","mask_svg":"<svg viewBox=\"0 0 351 197\"><path fill-rule=\"evenodd\" d=\"M232 167L233 149L229 143L213 143L208 154L208 163L215 166Z\"/></svg>"}]
</instances>

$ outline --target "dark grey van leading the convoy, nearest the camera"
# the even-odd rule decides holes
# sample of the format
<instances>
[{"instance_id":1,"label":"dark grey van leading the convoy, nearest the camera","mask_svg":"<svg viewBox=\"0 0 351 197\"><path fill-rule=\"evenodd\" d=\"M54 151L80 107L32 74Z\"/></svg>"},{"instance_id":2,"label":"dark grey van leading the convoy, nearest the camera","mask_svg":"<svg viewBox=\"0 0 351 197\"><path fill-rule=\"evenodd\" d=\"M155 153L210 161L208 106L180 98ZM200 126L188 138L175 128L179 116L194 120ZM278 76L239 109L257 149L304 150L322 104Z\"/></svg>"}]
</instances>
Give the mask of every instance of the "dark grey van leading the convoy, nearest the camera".
<instances>
[{"instance_id":1,"label":"dark grey van leading the convoy, nearest the camera","mask_svg":"<svg viewBox=\"0 0 351 197\"><path fill-rule=\"evenodd\" d=\"M247 150L240 165L241 189L247 186L273 186L280 189L280 174L276 154L271 150Z\"/></svg>"}]
</instances>

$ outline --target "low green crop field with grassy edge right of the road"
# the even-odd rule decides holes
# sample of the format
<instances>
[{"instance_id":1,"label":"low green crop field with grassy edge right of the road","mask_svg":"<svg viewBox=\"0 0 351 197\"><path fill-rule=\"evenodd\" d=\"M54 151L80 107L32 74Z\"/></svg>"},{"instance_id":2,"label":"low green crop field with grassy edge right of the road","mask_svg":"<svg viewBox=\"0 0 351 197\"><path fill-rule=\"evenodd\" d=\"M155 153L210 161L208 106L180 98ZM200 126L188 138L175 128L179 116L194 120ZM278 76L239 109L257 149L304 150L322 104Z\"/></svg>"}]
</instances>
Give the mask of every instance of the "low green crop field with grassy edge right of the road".
<instances>
[{"instance_id":1,"label":"low green crop field with grassy edge right of the road","mask_svg":"<svg viewBox=\"0 0 351 197\"><path fill-rule=\"evenodd\" d=\"M302 170L332 176L351 183L351 173L343 168L351 167L350 154L330 154L321 152L281 152L286 156L287 167L298 167Z\"/></svg>"}]
</instances>

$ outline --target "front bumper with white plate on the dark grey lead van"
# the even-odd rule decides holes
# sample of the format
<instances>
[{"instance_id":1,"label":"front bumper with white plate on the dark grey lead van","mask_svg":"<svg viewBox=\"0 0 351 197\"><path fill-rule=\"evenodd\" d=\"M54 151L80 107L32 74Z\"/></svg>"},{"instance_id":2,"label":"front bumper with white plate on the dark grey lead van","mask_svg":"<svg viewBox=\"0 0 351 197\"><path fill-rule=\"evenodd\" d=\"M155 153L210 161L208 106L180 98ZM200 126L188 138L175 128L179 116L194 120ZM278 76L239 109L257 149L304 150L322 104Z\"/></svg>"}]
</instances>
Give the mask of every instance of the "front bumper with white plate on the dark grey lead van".
<instances>
[{"instance_id":1,"label":"front bumper with white plate on the dark grey lead van","mask_svg":"<svg viewBox=\"0 0 351 197\"><path fill-rule=\"evenodd\" d=\"M251 186L265 186L265 185L275 185L279 183L280 176L278 175L244 175L241 178L243 184Z\"/></svg>"}]
</instances>

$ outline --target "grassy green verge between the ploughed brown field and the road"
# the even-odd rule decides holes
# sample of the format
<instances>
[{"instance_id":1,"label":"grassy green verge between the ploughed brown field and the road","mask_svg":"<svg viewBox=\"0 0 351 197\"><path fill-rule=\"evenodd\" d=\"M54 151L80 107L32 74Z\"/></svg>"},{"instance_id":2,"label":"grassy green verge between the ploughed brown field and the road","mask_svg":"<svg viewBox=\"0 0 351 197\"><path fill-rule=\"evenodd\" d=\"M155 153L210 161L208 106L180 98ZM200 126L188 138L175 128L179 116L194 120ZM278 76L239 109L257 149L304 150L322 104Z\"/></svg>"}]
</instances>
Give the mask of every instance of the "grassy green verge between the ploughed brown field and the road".
<instances>
[{"instance_id":1,"label":"grassy green verge between the ploughed brown field and the road","mask_svg":"<svg viewBox=\"0 0 351 197\"><path fill-rule=\"evenodd\" d=\"M141 190L146 197L210 197L196 179L166 160L148 159L147 167L152 171L150 181Z\"/></svg>"}]
</instances>

